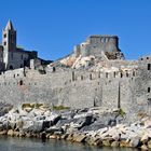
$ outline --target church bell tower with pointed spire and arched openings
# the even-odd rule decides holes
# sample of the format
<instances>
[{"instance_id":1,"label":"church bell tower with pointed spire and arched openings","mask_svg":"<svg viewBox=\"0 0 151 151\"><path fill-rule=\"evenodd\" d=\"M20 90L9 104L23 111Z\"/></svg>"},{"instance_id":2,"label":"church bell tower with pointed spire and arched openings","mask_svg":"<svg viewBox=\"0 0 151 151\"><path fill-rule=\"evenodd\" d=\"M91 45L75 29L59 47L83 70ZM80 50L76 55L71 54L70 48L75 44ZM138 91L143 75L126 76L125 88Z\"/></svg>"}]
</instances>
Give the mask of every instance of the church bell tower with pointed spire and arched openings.
<instances>
[{"instance_id":1,"label":"church bell tower with pointed spire and arched openings","mask_svg":"<svg viewBox=\"0 0 151 151\"><path fill-rule=\"evenodd\" d=\"M5 69L9 64L9 53L16 51L16 30L14 30L12 22L9 20L2 32L2 45L3 45L3 61Z\"/></svg>"}]
</instances>

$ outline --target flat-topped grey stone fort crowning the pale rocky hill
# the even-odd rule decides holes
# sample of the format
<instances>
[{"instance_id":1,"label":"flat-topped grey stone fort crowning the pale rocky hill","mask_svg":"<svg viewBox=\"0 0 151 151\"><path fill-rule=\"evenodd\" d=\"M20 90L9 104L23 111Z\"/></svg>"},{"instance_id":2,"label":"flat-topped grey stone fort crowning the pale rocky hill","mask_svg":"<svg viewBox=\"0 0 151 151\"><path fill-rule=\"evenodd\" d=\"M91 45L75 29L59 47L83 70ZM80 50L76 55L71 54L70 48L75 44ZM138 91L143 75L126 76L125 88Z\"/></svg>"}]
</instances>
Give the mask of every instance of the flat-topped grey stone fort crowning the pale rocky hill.
<instances>
[{"instance_id":1,"label":"flat-topped grey stone fort crowning the pale rocky hill","mask_svg":"<svg viewBox=\"0 0 151 151\"><path fill-rule=\"evenodd\" d=\"M124 55L119 49L118 36L90 36L85 42L74 47L76 56L104 57L102 52L109 59L123 59Z\"/></svg>"}]
</instances>

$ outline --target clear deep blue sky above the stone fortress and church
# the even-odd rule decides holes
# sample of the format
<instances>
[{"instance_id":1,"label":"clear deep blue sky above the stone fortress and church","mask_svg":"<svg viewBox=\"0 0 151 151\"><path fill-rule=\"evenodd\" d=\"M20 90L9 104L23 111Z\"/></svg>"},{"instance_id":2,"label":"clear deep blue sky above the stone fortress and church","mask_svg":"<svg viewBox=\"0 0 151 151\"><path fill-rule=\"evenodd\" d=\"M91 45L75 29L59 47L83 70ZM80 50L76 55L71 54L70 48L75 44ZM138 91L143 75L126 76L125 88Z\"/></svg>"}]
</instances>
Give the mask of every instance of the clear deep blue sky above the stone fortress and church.
<instances>
[{"instance_id":1,"label":"clear deep blue sky above the stone fortress and church","mask_svg":"<svg viewBox=\"0 0 151 151\"><path fill-rule=\"evenodd\" d=\"M1 32L11 19L17 45L44 59L70 54L91 35L116 35L126 59L151 55L151 0L0 0L0 5Z\"/></svg>"}]
</instances>

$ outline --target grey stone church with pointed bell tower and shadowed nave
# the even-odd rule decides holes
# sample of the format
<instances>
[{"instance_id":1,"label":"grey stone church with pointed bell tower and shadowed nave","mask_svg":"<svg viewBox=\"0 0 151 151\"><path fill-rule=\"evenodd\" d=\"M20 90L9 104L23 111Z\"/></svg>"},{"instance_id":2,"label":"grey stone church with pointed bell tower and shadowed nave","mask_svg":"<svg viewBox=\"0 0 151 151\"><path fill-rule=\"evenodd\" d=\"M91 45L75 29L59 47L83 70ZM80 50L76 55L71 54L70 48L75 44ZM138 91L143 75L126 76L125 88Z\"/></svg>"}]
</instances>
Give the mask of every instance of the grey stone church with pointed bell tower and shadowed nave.
<instances>
[{"instance_id":1,"label":"grey stone church with pointed bell tower and shadowed nave","mask_svg":"<svg viewBox=\"0 0 151 151\"><path fill-rule=\"evenodd\" d=\"M17 32L11 20L2 31L0 45L0 71L29 67L30 59L38 58L36 51L26 51L17 46Z\"/></svg>"}]
</instances>

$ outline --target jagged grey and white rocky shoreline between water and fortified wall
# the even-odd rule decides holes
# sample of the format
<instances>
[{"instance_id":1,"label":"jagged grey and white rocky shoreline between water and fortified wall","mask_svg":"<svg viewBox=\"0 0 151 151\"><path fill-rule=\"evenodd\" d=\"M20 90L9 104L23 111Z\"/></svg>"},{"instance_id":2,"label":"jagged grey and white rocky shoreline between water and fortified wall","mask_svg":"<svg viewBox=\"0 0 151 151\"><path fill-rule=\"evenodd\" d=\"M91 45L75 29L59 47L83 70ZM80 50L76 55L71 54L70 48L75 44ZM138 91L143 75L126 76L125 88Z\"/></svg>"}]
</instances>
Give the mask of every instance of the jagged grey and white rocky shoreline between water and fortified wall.
<instances>
[{"instance_id":1,"label":"jagged grey and white rocky shoreline between water and fortified wall","mask_svg":"<svg viewBox=\"0 0 151 151\"><path fill-rule=\"evenodd\" d=\"M126 124L125 115L121 109L70 110L24 104L0 116L0 135L151 149L151 118L141 115L139 121Z\"/></svg>"}]
</instances>

